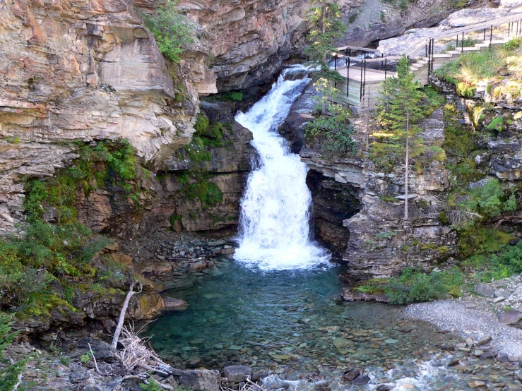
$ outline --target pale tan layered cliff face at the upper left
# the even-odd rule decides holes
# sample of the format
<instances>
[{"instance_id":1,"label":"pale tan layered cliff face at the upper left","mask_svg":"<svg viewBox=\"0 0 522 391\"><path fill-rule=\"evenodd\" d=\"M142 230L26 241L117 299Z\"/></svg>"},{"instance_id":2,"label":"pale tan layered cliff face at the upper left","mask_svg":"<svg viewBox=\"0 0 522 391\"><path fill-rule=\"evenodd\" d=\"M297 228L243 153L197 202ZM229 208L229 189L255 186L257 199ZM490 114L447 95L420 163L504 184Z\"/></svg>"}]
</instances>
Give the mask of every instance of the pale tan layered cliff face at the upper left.
<instances>
[{"instance_id":1,"label":"pale tan layered cliff face at the upper left","mask_svg":"<svg viewBox=\"0 0 522 391\"><path fill-rule=\"evenodd\" d=\"M206 51L174 85L131 1L2 2L0 229L23 218L22 179L65 167L73 142L127 138L153 164L188 143Z\"/></svg>"}]
</instances>

